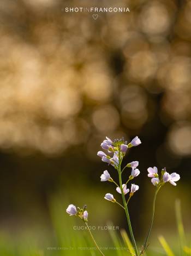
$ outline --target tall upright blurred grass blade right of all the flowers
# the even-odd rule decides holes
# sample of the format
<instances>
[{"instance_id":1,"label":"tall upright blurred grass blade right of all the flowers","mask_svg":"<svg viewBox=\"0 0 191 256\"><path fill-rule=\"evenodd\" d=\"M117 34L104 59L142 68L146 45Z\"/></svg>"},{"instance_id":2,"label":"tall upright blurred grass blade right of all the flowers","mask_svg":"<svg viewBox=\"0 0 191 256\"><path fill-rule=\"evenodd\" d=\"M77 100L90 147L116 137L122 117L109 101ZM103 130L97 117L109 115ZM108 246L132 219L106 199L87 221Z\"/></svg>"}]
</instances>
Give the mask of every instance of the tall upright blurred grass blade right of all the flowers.
<instances>
[{"instance_id":1,"label":"tall upright blurred grass blade right of all the flowers","mask_svg":"<svg viewBox=\"0 0 191 256\"><path fill-rule=\"evenodd\" d=\"M184 234L184 226L182 221L182 213L181 213L181 202L180 200L176 200L175 202L175 212L176 212L176 223L178 228L178 236L180 240L180 246L181 246L181 255L184 254L184 246L186 246L186 238Z\"/></svg>"}]
</instances>

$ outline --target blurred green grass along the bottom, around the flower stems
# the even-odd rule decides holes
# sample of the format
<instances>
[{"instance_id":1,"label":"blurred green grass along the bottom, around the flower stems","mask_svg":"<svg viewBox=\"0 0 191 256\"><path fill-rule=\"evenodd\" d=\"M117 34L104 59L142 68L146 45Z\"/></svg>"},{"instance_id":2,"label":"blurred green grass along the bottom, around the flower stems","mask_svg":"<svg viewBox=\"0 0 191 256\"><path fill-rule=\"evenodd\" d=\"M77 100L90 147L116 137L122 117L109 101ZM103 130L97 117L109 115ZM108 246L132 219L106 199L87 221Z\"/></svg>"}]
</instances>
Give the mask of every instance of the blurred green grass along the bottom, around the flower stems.
<instances>
[{"instance_id":1,"label":"blurred green grass along the bottom, around the flower stems","mask_svg":"<svg viewBox=\"0 0 191 256\"><path fill-rule=\"evenodd\" d=\"M11 236L6 232L0 233L1 256L86 256L99 255L94 247L91 237L85 230L74 230L74 226L83 226L80 219L69 217L65 213L65 200L60 196L52 196L50 199L50 216L53 232L50 235L44 227L31 230L23 230L18 236ZM176 202L176 232L169 232L161 236L157 231L153 232L150 246L144 255L191 255L190 244L186 244L184 227L181 216L180 202ZM94 223L89 223L91 225ZM95 224L97 225L97 224ZM108 224L112 225L112 224ZM132 255L134 249L125 230L92 231L97 243L107 255ZM160 235L160 236L159 236ZM157 237L159 239L157 239ZM179 240L179 241L178 241ZM141 243L139 243L139 248Z\"/></svg>"}]
</instances>

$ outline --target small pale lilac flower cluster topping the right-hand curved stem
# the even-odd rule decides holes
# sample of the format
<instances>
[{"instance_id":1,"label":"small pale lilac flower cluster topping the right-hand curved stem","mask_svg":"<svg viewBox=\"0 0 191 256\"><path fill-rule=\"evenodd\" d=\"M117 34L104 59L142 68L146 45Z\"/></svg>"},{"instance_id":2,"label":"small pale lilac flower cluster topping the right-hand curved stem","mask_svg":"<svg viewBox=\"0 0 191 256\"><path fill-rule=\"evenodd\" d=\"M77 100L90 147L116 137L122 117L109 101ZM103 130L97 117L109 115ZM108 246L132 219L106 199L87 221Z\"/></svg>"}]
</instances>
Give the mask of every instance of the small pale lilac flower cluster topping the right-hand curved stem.
<instances>
[{"instance_id":1,"label":"small pale lilac flower cluster topping the right-hand curved stem","mask_svg":"<svg viewBox=\"0 0 191 256\"><path fill-rule=\"evenodd\" d=\"M161 177L159 178L157 167L149 167L148 169L148 177L152 178L151 182L154 186L162 186L167 182L170 182L172 185L176 186L175 181L180 180L180 175L177 173L169 174L166 172L166 168L163 168L161 171Z\"/></svg>"}]
</instances>

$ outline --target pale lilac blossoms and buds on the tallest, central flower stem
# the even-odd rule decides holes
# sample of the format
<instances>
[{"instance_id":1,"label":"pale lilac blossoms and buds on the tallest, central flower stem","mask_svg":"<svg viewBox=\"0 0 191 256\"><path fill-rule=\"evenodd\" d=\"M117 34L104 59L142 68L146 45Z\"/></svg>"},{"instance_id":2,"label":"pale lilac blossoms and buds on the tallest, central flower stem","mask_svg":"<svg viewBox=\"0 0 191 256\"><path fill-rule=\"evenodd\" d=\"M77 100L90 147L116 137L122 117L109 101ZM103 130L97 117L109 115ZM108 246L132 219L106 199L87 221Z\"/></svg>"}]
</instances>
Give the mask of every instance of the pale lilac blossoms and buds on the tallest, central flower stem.
<instances>
[{"instance_id":1,"label":"pale lilac blossoms and buds on the tallest, central flower stem","mask_svg":"<svg viewBox=\"0 0 191 256\"><path fill-rule=\"evenodd\" d=\"M106 137L106 139L101 143L101 147L102 149L106 150L106 153L103 151L98 151L97 155L99 157L102 158L103 162L106 162L108 164L111 164L111 166L113 166L115 169L118 170L118 172L121 172L121 162L122 159L124 157L124 155L126 154L127 150L130 147L133 146L138 146L141 144L140 139L138 138L138 136L136 136L129 144L127 144L127 141L124 141L124 139L120 139L120 140L114 140L112 141L110 138ZM111 157L109 154L113 153L113 156ZM124 168L126 167L130 167L132 168L132 172L129 175L129 179L128 181L134 179L135 177L138 177L138 175L140 174L140 170L137 168L139 166L139 162L138 161L133 161L128 163ZM120 167L120 169L119 169ZM123 168L123 170L124 170ZM122 170L122 172L123 172ZM121 172L121 173L122 173ZM127 183L126 184L122 184L122 186L117 185L117 183L111 178L111 175L109 174L108 170L104 170L103 174L101 175L101 181L110 181L115 183L116 187L116 191L120 194L127 195L130 191L130 195L129 197L132 197L134 192L137 191L139 189L138 185L132 184L131 185L131 189L127 189ZM116 202L116 199L114 198L114 195L107 193L104 197L106 200L111 201L111 202Z\"/></svg>"}]
</instances>

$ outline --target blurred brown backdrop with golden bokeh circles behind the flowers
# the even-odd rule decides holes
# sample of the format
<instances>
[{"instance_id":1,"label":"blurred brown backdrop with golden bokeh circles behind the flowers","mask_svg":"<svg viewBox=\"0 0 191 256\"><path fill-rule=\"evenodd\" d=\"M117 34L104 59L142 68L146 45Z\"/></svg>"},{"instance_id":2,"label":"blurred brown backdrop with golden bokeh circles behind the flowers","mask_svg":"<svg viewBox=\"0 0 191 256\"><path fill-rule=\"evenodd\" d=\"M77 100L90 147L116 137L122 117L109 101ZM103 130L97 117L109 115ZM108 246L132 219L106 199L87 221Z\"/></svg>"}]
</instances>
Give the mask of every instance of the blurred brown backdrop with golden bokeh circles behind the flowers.
<instances>
[{"instance_id":1,"label":"blurred brown backdrop with golden bokeh circles behind the flowers","mask_svg":"<svg viewBox=\"0 0 191 256\"><path fill-rule=\"evenodd\" d=\"M129 7L130 13L99 13L97 20L92 13L65 13L65 7L89 5ZM189 233L190 12L191 2L181 0L1 0L3 255L9 255L10 243L17 255L18 243L28 248L34 240L42 250L55 245L55 226L60 237L73 232L65 216L69 203L86 203L92 225L112 221L126 228L121 209L103 199L111 192L120 200L112 184L100 183L106 168L116 177L97 157L105 136L131 140L138 135L142 141L125 160L140 162L135 180L140 190L130 202L140 244L154 192L147 178L150 166L181 175L177 187L168 184L158 196L152 240L165 234L176 241L176 198Z\"/></svg>"}]
</instances>

